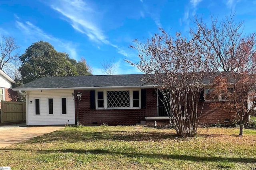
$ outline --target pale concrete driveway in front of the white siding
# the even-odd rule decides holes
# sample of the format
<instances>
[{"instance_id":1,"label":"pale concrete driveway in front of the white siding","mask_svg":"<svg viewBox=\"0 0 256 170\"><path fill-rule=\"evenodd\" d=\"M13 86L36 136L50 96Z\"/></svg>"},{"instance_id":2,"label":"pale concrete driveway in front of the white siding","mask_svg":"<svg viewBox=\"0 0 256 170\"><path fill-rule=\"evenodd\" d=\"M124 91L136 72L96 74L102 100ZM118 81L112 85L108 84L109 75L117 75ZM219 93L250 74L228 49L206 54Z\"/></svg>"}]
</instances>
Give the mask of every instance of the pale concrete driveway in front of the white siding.
<instances>
[{"instance_id":1,"label":"pale concrete driveway in front of the white siding","mask_svg":"<svg viewBox=\"0 0 256 170\"><path fill-rule=\"evenodd\" d=\"M26 127L25 124L0 126L0 148L63 128L64 126Z\"/></svg>"}]
</instances>

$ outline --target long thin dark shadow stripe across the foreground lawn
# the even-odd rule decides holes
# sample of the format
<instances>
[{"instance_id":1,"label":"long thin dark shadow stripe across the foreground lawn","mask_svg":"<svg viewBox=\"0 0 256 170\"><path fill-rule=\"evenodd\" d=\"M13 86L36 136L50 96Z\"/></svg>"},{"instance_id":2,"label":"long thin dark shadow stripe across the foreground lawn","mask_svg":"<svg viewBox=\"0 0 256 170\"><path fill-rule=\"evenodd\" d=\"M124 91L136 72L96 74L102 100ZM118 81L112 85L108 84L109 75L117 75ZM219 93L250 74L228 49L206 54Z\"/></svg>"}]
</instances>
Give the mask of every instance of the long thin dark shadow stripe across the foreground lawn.
<instances>
[{"instance_id":1,"label":"long thin dark shadow stripe across the foreground lawn","mask_svg":"<svg viewBox=\"0 0 256 170\"><path fill-rule=\"evenodd\" d=\"M148 154L148 153L128 153L128 152L116 152L105 149L63 149L63 150L30 150L30 149L0 149L0 150L24 150L24 151L35 151L39 154L48 154L48 153L76 153L76 154L102 154L102 155L114 155L114 156L127 156L131 158L153 158L153 159L174 159L174 160L187 160L194 162L219 162L221 160L228 160L228 162L242 162L242 163L254 163L256 162L255 158L228 158L228 157L204 157L204 156L191 156L191 155L180 155L180 154Z\"/></svg>"}]
</instances>

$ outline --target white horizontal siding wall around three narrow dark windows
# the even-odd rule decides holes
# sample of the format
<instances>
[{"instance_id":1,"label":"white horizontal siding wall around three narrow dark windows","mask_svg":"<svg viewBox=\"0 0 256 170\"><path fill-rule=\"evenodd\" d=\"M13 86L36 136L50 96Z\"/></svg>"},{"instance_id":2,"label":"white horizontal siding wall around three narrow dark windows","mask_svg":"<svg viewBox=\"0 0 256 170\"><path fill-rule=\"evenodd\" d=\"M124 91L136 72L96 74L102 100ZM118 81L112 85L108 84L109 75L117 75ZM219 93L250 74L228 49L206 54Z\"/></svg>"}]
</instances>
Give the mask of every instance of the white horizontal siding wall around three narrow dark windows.
<instances>
[{"instance_id":1,"label":"white horizontal siding wall around three narrow dark windows","mask_svg":"<svg viewBox=\"0 0 256 170\"><path fill-rule=\"evenodd\" d=\"M75 124L75 106L72 99L74 90L35 90L27 93L27 125ZM48 113L48 98L53 98L53 115ZM62 98L66 98L67 114L62 114ZM40 99L40 115L35 113L35 99Z\"/></svg>"}]
</instances>

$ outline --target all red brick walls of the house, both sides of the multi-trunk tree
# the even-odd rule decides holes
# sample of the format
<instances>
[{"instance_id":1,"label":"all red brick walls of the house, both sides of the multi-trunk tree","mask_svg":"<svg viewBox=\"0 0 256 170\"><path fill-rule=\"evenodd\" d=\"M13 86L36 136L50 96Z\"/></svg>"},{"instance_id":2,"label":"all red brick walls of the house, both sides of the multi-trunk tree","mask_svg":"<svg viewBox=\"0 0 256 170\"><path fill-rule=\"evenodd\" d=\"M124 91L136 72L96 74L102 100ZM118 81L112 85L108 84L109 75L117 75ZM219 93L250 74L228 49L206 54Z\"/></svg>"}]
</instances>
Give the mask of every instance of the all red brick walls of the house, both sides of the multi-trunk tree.
<instances>
[{"instance_id":1,"label":"all red brick walls of the house, both sides of the multi-trunk tree","mask_svg":"<svg viewBox=\"0 0 256 170\"><path fill-rule=\"evenodd\" d=\"M157 97L153 97L154 89L146 89L146 109L90 109L90 90L77 90L75 93L81 92L82 99L79 102L79 122L83 125L136 125L145 117L157 117ZM224 104L225 102L222 102ZM203 102L199 102L202 107ZM235 119L236 113L228 111L222 105L212 106L214 102L205 102L200 123L214 124L224 123L225 119L230 121ZM77 101L75 101L75 117L77 115ZM166 122L169 121L160 121ZM93 124L92 122L97 122ZM153 120L148 121L154 123Z\"/></svg>"}]
</instances>

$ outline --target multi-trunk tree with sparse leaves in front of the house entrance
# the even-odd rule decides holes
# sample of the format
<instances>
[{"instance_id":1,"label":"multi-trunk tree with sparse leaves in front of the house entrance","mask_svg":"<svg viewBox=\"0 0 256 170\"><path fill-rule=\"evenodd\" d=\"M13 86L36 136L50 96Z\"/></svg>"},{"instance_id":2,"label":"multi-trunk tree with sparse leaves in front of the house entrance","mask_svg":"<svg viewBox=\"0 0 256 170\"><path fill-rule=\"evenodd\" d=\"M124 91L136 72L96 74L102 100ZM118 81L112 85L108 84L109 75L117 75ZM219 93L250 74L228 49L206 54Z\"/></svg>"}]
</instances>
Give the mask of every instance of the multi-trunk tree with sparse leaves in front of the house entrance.
<instances>
[{"instance_id":1,"label":"multi-trunk tree with sparse leaves in front of the house entrance","mask_svg":"<svg viewBox=\"0 0 256 170\"><path fill-rule=\"evenodd\" d=\"M165 110L176 133L194 136L204 104L200 94L204 80L212 78L212 55L199 37L188 40L176 33L170 37L163 29L146 42L135 40L140 62L131 63L146 74L146 83L156 84L163 98Z\"/></svg>"}]
</instances>

